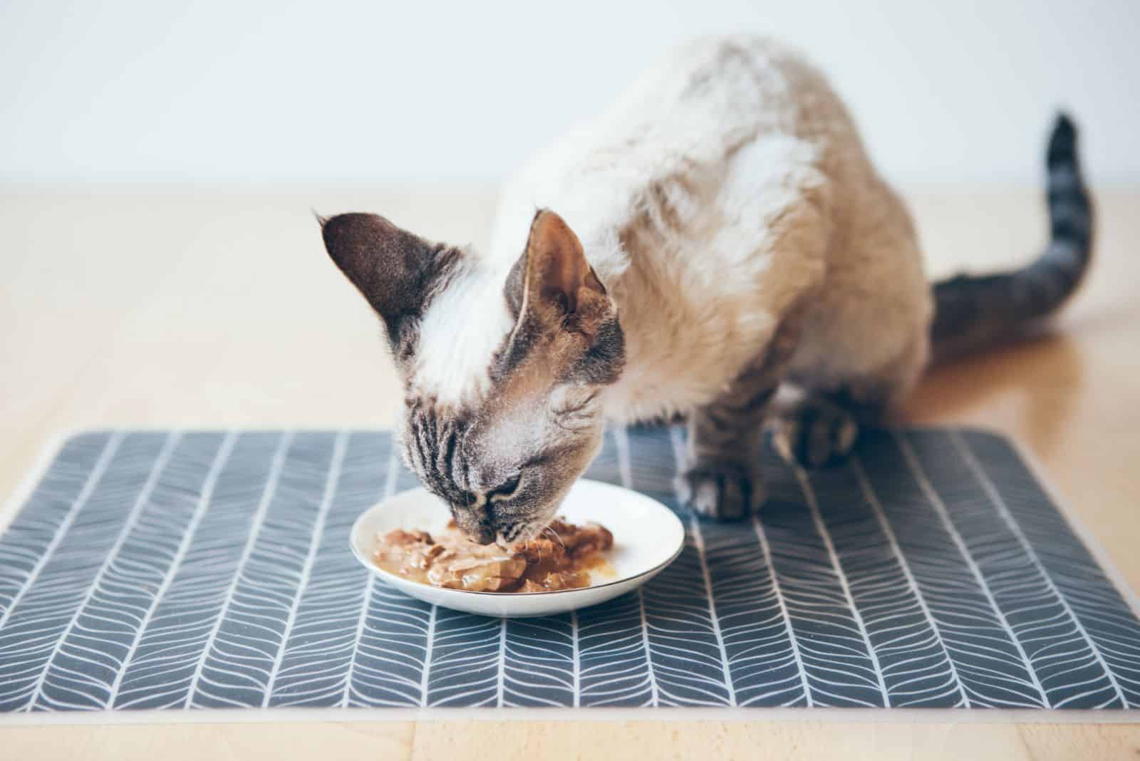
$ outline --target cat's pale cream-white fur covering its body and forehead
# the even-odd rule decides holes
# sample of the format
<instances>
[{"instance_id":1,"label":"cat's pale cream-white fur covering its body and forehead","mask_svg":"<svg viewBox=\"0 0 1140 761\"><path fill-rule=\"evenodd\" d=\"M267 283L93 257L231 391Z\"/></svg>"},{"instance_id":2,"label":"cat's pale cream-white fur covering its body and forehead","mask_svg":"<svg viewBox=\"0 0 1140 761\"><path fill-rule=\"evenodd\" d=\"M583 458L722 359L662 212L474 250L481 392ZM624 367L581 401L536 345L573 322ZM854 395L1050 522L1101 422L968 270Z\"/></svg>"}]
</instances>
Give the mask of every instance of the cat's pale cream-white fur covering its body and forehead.
<instances>
[{"instance_id":1,"label":"cat's pale cream-white fur covering its body and forehead","mask_svg":"<svg viewBox=\"0 0 1140 761\"><path fill-rule=\"evenodd\" d=\"M931 305L907 213L823 77L771 41L675 51L507 186L489 255L424 322L420 371L441 393L486 388L511 327L489 294L536 207L567 220L618 304L612 418L711 401L797 305L800 379L902 391L926 361Z\"/></svg>"}]
</instances>

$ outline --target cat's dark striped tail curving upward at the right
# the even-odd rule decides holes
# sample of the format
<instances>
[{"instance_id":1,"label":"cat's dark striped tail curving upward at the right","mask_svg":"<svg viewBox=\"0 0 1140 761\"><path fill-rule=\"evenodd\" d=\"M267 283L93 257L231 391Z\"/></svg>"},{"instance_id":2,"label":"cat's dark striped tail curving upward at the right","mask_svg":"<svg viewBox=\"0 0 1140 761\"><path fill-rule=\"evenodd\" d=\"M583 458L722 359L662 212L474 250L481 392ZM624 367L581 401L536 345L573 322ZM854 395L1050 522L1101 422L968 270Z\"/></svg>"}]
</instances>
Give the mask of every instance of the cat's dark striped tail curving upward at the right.
<instances>
[{"instance_id":1,"label":"cat's dark striped tail curving upward at the right","mask_svg":"<svg viewBox=\"0 0 1140 761\"><path fill-rule=\"evenodd\" d=\"M1049 246L1018 270L935 284L935 361L1017 334L1060 309L1084 279L1092 260L1093 210L1081 179L1076 126L1064 114L1053 125L1047 163Z\"/></svg>"}]
</instances>

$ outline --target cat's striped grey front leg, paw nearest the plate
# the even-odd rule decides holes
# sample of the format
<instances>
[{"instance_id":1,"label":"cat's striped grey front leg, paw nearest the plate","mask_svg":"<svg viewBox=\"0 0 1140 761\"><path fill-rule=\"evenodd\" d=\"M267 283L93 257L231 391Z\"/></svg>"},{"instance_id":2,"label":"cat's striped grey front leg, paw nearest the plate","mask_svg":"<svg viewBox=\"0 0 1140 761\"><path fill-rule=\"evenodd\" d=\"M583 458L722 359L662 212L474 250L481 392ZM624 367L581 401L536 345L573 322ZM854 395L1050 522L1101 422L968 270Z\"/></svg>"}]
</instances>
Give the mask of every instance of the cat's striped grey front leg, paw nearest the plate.
<instances>
[{"instance_id":1,"label":"cat's striped grey front leg, paw nearest the plate","mask_svg":"<svg viewBox=\"0 0 1140 761\"><path fill-rule=\"evenodd\" d=\"M762 358L709 404L689 416L689 436L677 473L677 496L694 512L733 519L764 501L759 458L768 404L780 387L799 330L787 321Z\"/></svg>"}]
</instances>

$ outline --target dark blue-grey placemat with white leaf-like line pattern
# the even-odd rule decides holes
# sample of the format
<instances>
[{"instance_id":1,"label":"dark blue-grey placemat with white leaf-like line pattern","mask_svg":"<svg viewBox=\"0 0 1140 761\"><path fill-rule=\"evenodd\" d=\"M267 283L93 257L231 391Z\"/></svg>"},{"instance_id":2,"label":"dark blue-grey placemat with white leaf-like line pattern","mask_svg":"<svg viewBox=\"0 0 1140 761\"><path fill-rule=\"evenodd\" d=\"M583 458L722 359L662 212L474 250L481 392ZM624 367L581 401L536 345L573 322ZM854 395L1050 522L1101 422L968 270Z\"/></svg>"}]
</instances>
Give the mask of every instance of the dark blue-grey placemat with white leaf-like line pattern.
<instances>
[{"instance_id":1,"label":"dark blue-grey placemat with white leaf-like line pattern","mask_svg":"<svg viewBox=\"0 0 1140 761\"><path fill-rule=\"evenodd\" d=\"M386 433L75 435L0 539L0 711L1140 706L1140 622L1004 439L768 455L762 514L720 524L673 496L681 435L611 431L587 474L678 509L681 557L532 620L353 559L356 516L415 485Z\"/></svg>"}]
</instances>

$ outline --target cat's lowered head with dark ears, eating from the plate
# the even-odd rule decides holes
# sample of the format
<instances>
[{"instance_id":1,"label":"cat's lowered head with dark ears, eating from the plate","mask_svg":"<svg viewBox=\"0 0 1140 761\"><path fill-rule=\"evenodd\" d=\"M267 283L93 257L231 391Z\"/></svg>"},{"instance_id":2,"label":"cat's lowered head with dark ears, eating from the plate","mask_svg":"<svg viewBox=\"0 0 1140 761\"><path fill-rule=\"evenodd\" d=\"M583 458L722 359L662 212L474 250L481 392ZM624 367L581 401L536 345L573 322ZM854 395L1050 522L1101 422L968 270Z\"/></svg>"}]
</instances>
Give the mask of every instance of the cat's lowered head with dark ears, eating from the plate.
<instances>
[{"instance_id":1,"label":"cat's lowered head with dark ears, eating from the plate","mask_svg":"<svg viewBox=\"0 0 1140 761\"><path fill-rule=\"evenodd\" d=\"M384 322L405 386L405 461L471 539L536 534L601 447L598 394L625 363L617 306L578 237L539 211L511 265L375 214L321 227Z\"/></svg>"}]
</instances>

